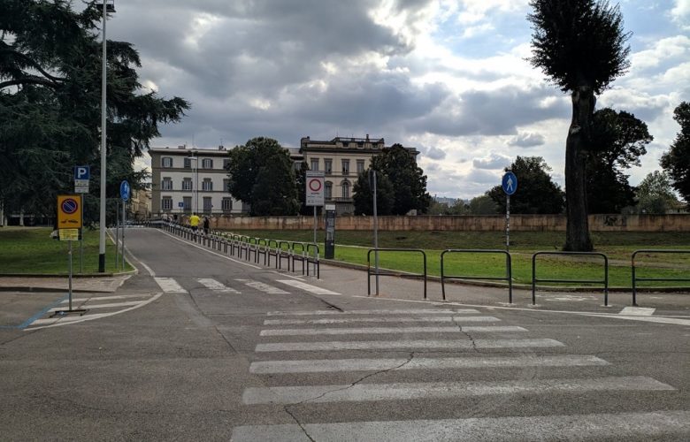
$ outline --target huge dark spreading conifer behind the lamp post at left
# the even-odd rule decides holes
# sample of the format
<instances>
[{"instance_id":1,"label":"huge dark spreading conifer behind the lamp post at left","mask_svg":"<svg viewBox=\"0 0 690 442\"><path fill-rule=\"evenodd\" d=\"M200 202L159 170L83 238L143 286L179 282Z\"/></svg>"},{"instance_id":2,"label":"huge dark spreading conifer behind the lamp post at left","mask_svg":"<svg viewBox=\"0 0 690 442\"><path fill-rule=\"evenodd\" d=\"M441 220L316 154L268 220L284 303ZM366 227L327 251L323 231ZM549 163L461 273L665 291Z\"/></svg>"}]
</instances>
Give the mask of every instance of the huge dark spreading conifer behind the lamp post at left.
<instances>
[{"instance_id":1,"label":"huge dark spreading conifer behind the lamp post at left","mask_svg":"<svg viewBox=\"0 0 690 442\"><path fill-rule=\"evenodd\" d=\"M66 0L0 2L0 200L8 210L54 216L55 195L72 192L73 166L91 166L98 194L102 2L73 11ZM188 103L143 92L139 55L108 42L108 194L134 171L158 125L178 121ZM87 195L87 201L93 200ZM109 210L110 212L110 210ZM87 222L96 212L88 210ZM96 217L95 217L96 218Z\"/></svg>"}]
</instances>

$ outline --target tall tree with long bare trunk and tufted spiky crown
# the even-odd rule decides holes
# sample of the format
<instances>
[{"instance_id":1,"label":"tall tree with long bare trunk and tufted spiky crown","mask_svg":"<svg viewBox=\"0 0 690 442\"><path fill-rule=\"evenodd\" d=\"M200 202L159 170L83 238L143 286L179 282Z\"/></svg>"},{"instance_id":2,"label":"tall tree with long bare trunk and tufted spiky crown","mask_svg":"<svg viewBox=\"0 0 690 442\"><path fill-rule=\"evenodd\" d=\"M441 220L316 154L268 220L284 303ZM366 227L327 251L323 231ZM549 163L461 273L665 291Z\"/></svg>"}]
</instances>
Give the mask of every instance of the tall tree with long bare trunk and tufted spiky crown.
<instances>
[{"instance_id":1,"label":"tall tree with long bare trunk and tufted spiky crown","mask_svg":"<svg viewBox=\"0 0 690 442\"><path fill-rule=\"evenodd\" d=\"M630 65L617 6L594 0L532 0L530 62L571 94L572 118L565 141L565 250L592 250L587 224L586 158L592 149L595 95Z\"/></svg>"}]
</instances>

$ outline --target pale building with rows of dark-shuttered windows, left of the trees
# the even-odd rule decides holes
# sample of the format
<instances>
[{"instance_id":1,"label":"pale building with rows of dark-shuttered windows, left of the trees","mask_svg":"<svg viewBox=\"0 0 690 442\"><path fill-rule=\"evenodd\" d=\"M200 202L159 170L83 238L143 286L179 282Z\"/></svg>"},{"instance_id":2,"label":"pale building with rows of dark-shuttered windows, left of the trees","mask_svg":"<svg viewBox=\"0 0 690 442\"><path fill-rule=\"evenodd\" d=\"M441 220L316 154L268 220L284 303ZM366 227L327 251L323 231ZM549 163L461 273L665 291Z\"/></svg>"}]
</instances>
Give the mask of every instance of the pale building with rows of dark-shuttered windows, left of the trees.
<instances>
[{"instance_id":1,"label":"pale building with rows of dark-shuttered windows, left of the trees","mask_svg":"<svg viewBox=\"0 0 690 442\"><path fill-rule=\"evenodd\" d=\"M207 215L241 214L246 204L227 193L227 151L214 149L149 149L151 213Z\"/></svg>"}]
</instances>

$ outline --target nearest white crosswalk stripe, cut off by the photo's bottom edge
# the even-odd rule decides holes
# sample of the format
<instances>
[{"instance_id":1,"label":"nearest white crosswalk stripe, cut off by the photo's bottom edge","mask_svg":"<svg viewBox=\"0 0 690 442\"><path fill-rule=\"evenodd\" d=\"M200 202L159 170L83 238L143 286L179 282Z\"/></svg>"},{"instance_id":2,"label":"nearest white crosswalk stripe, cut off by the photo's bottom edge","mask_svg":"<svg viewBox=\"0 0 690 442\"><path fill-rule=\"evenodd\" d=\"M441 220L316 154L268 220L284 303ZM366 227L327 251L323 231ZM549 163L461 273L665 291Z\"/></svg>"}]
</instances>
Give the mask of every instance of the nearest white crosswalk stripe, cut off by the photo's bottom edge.
<instances>
[{"instance_id":1,"label":"nearest white crosswalk stripe, cut off by the photo's bottom edge","mask_svg":"<svg viewBox=\"0 0 690 442\"><path fill-rule=\"evenodd\" d=\"M592 415L540 415L473 417L416 421L351 423L301 423L235 427L234 442L280 440L285 442L340 442L342 440L644 440L686 438L690 411L614 413ZM307 436L309 435L309 436Z\"/></svg>"}]
</instances>

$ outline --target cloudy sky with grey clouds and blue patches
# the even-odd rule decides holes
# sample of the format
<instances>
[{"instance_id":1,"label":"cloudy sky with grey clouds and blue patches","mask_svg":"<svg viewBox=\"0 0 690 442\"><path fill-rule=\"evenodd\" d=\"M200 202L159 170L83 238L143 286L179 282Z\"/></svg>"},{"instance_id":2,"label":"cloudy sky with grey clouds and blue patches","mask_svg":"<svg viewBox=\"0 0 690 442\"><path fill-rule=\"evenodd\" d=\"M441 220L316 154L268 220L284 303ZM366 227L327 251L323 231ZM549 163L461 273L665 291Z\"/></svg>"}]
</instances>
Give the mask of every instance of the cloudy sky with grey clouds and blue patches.
<instances>
[{"instance_id":1,"label":"cloudy sky with grey clouds and blue patches","mask_svg":"<svg viewBox=\"0 0 690 442\"><path fill-rule=\"evenodd\" d=\"M613 2L615 3L615 2ZM690 100L690 0L621 0L632 66L597 107L655 137L636 185L659 168ZM528 0L117 0L108 38L134 43L140 75L192 103L155 147L215 148L269 136L384 137L417 148L438 196L500 184L543 156L563 184L570 98L525 61ZM519 178L519 177L518 177Z\"/></svg>"}]
</instances>

